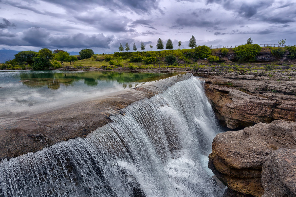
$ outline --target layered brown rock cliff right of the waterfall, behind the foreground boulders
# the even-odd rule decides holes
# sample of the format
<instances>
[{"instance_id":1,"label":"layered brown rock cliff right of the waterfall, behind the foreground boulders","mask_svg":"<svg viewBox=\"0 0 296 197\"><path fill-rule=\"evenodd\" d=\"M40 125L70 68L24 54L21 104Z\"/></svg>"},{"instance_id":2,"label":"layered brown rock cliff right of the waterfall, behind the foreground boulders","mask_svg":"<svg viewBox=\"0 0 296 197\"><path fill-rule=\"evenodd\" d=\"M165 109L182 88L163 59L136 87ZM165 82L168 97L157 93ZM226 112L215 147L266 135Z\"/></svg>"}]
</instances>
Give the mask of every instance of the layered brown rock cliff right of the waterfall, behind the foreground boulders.
<instances>
[{"instance_id":1,"label":"layered brown rock cliff right of the waterfall, behind the foreground boulders","mask_svg":"<svg viewBox=\"0 0 296 197\"><path fill-rule=\"evenodd\" d=\"M228 128L296 119L296 77L223 74L206 79L205 92Z\"/></svg>"}]
</instances>

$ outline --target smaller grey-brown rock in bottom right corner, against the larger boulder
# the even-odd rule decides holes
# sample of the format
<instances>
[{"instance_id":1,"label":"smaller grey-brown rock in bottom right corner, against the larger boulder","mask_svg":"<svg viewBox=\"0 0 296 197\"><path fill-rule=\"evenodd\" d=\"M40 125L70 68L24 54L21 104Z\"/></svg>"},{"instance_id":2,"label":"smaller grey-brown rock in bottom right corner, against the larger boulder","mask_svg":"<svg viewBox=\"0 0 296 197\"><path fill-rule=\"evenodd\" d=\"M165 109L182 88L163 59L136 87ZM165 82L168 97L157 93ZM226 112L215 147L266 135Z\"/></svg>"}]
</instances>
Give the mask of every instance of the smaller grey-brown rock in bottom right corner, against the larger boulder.
<instances>
[{"instance_id":1,"label":"smaller grey-brown rock in bottom right corner, against the larger boulder","mask_svg":"<svg viewBox=\"0 0 296 197\"><path fill-rule=\"evenodd\" d=\"M262 166L262 197L296 196L296 149L279 149Z\"/></svg>"}]
</instances>

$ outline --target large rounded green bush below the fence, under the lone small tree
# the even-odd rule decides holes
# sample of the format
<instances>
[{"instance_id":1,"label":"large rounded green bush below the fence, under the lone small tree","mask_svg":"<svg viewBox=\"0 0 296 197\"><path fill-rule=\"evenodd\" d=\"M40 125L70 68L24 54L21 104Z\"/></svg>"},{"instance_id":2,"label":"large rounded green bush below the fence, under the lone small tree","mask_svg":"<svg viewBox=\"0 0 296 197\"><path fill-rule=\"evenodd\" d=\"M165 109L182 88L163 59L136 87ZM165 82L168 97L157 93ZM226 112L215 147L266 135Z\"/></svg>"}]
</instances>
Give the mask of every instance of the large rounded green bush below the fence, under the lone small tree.
<instances>
[{"instance_id":1,"label":"large rounded green bush below the fence, under the lone small tree","mask_svg":"<svg viewBox=\"0 0 296 197\"><path fill-rule=\"evenodd\" d=\"M240 45L233 48L236 59L239 61L255 61L261 50L262 48L258 44Z\"/></svg>"}]
</instances>

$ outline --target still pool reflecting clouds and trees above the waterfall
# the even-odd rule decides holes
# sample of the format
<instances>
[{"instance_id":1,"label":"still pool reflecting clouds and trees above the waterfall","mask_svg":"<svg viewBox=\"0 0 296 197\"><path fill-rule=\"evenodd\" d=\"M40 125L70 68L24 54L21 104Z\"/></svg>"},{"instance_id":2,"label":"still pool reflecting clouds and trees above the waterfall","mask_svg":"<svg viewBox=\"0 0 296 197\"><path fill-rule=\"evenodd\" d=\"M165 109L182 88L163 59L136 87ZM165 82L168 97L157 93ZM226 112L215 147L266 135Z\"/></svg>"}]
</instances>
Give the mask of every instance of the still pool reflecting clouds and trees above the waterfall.
<instances>
[{"instance_id":1,"label":"still pool reflecting clouds and trees above the waterfall","mask_svg":"<svg viewBox=\"0 0 296 197\"><path fill-rule=\"evenodd\" d=\"M110 95L178 73L0 71L0 123Z\"/></svg>"}]
</instances>

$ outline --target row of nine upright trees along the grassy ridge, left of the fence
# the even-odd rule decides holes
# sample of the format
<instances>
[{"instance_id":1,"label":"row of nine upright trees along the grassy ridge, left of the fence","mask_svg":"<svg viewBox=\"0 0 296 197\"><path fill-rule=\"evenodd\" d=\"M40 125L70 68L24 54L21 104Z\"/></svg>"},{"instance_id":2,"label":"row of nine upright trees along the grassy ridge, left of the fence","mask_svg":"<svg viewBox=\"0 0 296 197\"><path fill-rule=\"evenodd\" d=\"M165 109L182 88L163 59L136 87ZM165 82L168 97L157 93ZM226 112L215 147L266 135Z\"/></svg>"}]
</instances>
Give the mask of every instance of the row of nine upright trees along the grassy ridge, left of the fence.
<instances>
[{"instance_id":1,"label":"row of nine upright trees along the grassy ridge, left of the fence","mask_svg":"<svg viewBox=\"0 0 296 197\"><path fill-rule=\"evenodd\" d=\"M188 46L191 47L191 48L197 46L196 45L196 40L195 40L195 38L194 38L193 35L191 36L191 38L189 40L189 45ZM143 43L143 41L141 41L140 47L141 47L141 50L143 50L143 51L145 50L146 45ZM149 45L149 47L152 50L153 46L152 45ZM178 41L178 48L180 48L180 47L181 47L181 41ZM161 50L161 49L164 48L163 40L161 38L158 38L157 43L156 43L156 48L159 49L159 50ZM165 49L173 49L173 48L174 48L174 46L173 46L172 40L170 40L170 38L169 38L168 39L168 42L165 45ZM122 44L120 43L118 49L119 49L120 52L121 51L124 51L124 50L129 51L130 50L130 46L129 46L128 42L126 42L125 48L123 48ZM136 44L135 43L133 43L133 50L134 51L137 51L137 47L136 47Z\"/></svg>"}]
</instances>

